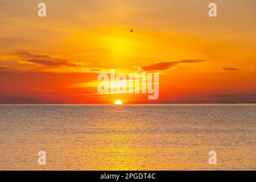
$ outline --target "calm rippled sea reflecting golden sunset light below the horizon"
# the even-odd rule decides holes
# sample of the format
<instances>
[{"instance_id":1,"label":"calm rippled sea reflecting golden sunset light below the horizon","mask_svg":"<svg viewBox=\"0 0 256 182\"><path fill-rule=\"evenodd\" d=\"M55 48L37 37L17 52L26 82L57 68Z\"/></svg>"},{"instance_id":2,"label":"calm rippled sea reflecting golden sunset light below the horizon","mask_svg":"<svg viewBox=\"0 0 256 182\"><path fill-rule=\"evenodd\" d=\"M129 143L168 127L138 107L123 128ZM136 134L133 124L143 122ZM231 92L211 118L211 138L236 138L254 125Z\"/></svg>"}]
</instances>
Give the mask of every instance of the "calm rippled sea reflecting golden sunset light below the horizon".
<instances>
[{"instance_id":1,"label":"calm rippled sea reflecting golden sunset light below the horizon","mask_svg":"<svg viewBox=\"0 0 256 182\"><path fill-rule=\"evenodd\" d=\"M256 105L0 105L5 170L256 169L255 139Z\"/></svg>"}]
</instances>

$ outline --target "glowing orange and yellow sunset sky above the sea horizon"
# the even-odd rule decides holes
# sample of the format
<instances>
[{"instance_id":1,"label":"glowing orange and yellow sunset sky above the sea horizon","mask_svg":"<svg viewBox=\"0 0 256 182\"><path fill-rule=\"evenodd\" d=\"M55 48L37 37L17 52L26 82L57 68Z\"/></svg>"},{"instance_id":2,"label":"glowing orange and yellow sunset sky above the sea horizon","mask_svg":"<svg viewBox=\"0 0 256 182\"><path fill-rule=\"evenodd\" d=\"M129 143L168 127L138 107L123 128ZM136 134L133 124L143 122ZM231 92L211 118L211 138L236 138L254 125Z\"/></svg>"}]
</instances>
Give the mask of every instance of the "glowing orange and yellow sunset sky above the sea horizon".
<instances>
[{"instance_id":1,"label":"glowing orange and yellow sunset sky above the sea horizon","mask_svg":"<svg viewBox=\"0 0 256 182\"><path fill-rule=\"evenodd\" d=\"M211 2L0 0L0 104L256 102L256 2ZM112 68L159 73L158 100L98 94Z\"/></svg>"}]
</instances>

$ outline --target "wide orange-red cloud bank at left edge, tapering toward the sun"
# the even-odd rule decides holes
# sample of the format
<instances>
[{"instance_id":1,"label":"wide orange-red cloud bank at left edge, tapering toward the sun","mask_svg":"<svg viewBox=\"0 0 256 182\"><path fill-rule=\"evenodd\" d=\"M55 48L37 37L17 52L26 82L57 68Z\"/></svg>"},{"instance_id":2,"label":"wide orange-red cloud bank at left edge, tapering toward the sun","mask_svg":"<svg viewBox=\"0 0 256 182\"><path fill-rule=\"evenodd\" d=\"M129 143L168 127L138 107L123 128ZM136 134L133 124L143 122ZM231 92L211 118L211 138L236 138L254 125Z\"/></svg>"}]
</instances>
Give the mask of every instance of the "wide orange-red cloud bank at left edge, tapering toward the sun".
<instances>
[{"instance_id":1,"label":"wide orange-red cloud bank at left edge, tapering toward the sun","mask_svg":"<svg viewBox=\"0 0 256 182\"><path fill-rule=\"evenodd\" d=\"M3 61L2 61L3 60ZM0 71L7 71L7 67L13 72L56 72L56 73L102 73L106 70L102 67L92 67L84 61L72 63L57 55L34 54L27 51L5 51L0 49Z\"/></svg>"}]
</instances>

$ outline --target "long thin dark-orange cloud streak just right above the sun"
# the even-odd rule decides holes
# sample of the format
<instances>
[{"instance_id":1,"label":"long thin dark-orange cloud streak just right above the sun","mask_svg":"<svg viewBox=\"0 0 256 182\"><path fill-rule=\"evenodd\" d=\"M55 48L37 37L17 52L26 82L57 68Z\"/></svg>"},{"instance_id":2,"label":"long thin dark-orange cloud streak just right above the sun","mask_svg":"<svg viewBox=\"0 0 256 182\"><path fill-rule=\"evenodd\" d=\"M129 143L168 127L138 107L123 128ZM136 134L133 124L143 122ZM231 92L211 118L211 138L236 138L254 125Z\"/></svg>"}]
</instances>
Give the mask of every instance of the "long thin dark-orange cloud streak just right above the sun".
<instances>
[{"instance_id":1,"label":"long thin dark-orange cloud streak just right above the sun","mask_svg":"<svg viewBox=\"0 0 256 182\"><path fill-rule=\"evenodd\" d=\"M195 60L180 60L180 61L161 62L161 63L147 65L144 67L139 67L139 69L141 69L141 71L144 71L144 72L168 71L170 68L172 68L178 64L203 63L205 61L206 60L195 59Z\"/></svg>"}]
</instances>

